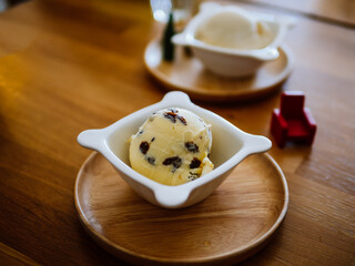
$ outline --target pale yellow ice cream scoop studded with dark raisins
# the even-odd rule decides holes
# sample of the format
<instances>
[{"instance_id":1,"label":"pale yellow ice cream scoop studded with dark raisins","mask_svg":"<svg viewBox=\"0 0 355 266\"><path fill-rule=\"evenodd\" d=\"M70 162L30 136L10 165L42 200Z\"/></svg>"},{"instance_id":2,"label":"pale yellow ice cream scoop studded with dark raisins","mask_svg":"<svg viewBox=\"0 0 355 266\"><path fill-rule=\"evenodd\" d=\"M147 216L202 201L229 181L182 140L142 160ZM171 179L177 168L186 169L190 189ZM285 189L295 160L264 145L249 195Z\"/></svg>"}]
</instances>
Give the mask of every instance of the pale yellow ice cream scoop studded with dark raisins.
<instances>
[{"instance_id":1,"label":"pale yellow ice cream scoop studded with dark raisins","mask_svg":"<svg viewBox=\"0 0 355 266\"><path fill-rule=\"evenodd\" d=\"M210 125L191 111L160 110L130 141L132 168L159 183L180 185L213 170Z\"/></svg>"}]
</instances>

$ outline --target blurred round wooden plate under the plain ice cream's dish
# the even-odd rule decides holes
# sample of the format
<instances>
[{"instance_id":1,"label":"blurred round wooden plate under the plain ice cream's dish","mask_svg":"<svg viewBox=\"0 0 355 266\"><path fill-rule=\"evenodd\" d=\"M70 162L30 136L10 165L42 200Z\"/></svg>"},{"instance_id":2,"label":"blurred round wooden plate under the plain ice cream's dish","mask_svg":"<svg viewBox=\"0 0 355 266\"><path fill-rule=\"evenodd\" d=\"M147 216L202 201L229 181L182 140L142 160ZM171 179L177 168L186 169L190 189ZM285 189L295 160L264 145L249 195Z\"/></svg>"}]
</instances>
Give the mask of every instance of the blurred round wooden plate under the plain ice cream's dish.
<instances>
[{"instance_id":1,"label":"blurred round wooden plate under the plain ice cream's dish","mask_svg":"<svg viewBox=\"0 0 355 266\"><path fill-rule=\"evenodd\" d=\"M277 60L265 63L255 75L245 79L219 76L181 47L176 47L172 63L162 61L161 54L156 40L145 49L144 63L152 76L169 91L180 90L192 99L212 102L248 101L268 95L281 89L293 69L293 55L285 45L280 49Z\"/></svg>"}]
</instances>

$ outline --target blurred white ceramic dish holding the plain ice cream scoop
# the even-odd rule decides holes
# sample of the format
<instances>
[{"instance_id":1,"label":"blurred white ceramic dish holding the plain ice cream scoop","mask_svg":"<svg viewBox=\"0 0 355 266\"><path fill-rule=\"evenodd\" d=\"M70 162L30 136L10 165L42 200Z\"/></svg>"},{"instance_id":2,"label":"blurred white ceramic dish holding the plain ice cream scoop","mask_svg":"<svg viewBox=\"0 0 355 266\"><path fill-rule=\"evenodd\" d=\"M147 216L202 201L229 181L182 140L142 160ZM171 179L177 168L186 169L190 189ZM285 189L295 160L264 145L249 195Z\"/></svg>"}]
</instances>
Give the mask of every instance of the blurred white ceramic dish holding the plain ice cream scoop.
<instances>
[{"instance_id":1,"label":"blurred white ceramic dish holding the plain ice cream scoop","mask_svg":"<svg viewBox=\"0 0 355 266\"><path fill-rule=\"evenodd\" d=\"M251 75L267 61L278 58L277 48L283 43L290 28L295 23L290 17L275 17L271 14L250 12L257 21L266 23L273 35L272 42L263 49L232 49L211 45L195 38L199 27L209 18L225 11L245 13L235 6L221 6L204 3L201 11L189 22L182 33L172 38L173 43L189 45L193 53L212 72L230 78Z\"/></svg>"}]
</instances>

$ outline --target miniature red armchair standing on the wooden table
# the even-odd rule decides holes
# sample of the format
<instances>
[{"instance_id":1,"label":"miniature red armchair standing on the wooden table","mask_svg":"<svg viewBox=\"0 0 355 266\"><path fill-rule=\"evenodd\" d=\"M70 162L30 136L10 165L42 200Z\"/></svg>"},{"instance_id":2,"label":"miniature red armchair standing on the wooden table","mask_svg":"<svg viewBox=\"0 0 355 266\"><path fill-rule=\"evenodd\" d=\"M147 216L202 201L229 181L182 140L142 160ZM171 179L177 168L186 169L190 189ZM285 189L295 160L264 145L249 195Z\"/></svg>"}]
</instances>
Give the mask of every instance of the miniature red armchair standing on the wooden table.
<instances>
[{"instance_id":1,"label":"miniature red armchair standing on the wooden table","mask_svg":"<svg viewBox=\"0 0 355 266\"><path fill-rule=\"evenodd\" d=\"M271 120L271 133L280 147L287 141L313 143L317 126L311 110L304 108L304 99L301 91L282 93L280 109L274 110Z\"/></svg>"}]
</instances>

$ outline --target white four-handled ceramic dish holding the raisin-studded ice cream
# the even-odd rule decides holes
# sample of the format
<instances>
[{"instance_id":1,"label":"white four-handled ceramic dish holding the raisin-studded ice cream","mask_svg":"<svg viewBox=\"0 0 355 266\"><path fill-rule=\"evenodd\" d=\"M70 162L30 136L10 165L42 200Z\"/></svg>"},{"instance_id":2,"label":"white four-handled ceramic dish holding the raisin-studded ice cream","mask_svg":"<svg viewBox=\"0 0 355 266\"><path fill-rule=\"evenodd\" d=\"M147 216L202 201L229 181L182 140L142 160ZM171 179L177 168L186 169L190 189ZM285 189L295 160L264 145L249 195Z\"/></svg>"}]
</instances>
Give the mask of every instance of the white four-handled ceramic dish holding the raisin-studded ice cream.
<instances>
[{"instance_id":1,"label":"white four-handled ceramic dish holding the raisin-studded ice cream","mask_svg":"<svg viewBox=\"0 0 355 266\"><path fill-rule=\"evenodd\" d=\"M179 186L156 183L131 168L129 162L129 137L136 133L153 112L173 106L190 110L212 125L211 161L215 165L211 173ZM183 92L169 92L161 102L136 111L108 127L83 131L78 142L100 152L139 195L166 208L186 207L201 202L242 160L254 153L266 152L272 145L268 139L247 134L215 113L193 104Z\"/></svg>"}]
</instances>

